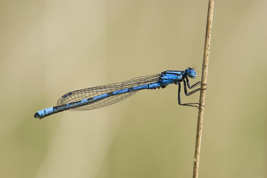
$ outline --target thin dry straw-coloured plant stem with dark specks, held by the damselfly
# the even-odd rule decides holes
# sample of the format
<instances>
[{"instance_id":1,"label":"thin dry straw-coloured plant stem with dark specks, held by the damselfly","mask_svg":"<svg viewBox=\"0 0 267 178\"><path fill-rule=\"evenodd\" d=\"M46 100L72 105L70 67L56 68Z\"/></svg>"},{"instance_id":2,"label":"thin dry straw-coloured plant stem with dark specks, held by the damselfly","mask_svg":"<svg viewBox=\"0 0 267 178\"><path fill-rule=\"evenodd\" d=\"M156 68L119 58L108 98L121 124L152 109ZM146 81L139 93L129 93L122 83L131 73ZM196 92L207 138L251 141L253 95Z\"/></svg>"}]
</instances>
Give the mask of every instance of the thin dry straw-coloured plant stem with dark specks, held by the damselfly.
<instances>
[{"instance_id":1,"label":"thin dry straw-coloured plant stem with dark specks, held by the damselfly","mask_svg":"<svg viewBox=\"0 0 267 178\"><path fill-rule=\"evenodd\" d=\"M214 7L214 0L209 0L201 83L207 83L213 7ZM201 84L201 88L205 87L206 87L205 85ZM199 103L203 106L205 106L205 94L206 90L200 90ZM199 106L198 116L197 116L197 136L196 136L196 146L195 146L195 156L194 156L193 178L198 177L203 114L204 114L204 107Z\"/></svg>"}]
</instances>

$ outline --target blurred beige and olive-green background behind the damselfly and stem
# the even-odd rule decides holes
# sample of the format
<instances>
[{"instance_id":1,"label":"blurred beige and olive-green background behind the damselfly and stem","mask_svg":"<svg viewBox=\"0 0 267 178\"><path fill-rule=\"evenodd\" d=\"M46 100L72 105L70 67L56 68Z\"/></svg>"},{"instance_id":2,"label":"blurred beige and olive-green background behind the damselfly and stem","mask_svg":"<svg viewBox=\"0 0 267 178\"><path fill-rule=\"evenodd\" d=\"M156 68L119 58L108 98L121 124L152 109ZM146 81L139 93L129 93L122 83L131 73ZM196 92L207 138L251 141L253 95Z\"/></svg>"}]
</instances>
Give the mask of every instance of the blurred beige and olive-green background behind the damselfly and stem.
<instances>
[{"instance_id":1,"label":"blurred beige and olive-green background behind the damselfly and stem","mask_svg":"<svg viewBox=\"0 0 267 178\"><path fill-rule=\"evenodd\" d=\"M192 177L197 109L177 104L177 85L33 115L72 90L193 64L199 81L208 0L0 4L0 177ZM199 177L267 177L266 8L215 1Z\"/></svg>"}]
</instances>

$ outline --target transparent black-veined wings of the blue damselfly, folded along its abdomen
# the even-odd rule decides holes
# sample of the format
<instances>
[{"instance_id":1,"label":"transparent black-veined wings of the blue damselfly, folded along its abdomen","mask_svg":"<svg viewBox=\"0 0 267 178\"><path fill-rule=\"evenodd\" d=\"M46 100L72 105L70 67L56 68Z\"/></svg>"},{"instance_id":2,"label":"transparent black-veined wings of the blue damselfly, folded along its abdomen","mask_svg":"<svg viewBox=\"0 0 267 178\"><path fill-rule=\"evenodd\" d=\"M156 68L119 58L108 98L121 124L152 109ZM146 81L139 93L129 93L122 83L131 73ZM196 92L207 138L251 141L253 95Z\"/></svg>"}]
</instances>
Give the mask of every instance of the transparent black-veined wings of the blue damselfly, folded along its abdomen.
<instances>
[{"instance_id":1,"label":"transparent black-veined wings of the blue damselfly, folded along its abdomen","mask_svg":"<svg viewBox=\"0 0 267 178\"><path fill-rule=\"evenodd\" d=\"M59 100L57 101L57 106L64 105L67 103L81 101L83 99L92 98L95 96L99 96L99 95L102 95L105 93L110 93L110 92L122 90L125 88L145 85L145 84L150 83L150 82L156 82L156 81L158 81L159 77L160 77L160 74L148 75L148 76L144 76L144 77L134 78L132 80L127 80L127 81L121 82L121 83L113 83L113 84L109 84L109 85L102 85L102 86L98 86L98 87L72 91L72 92L69 92L69 93L63 95L61 98L59 98ZM102 100L96 101L94 103L91 103L91 104L88 104L85 106L69 109L68 111L87 111L87 110L91 110L91 109L97 109L97 108L105 107L105 106L108 106L110 104L117 103L123 99L126 99L129 96L132 96L133 94L135 94L137 91L139 91L139 90L132 91L129 93L123 93L120 95L110 96L108 98L104 98Z\"/></svg>"}]
</instances>

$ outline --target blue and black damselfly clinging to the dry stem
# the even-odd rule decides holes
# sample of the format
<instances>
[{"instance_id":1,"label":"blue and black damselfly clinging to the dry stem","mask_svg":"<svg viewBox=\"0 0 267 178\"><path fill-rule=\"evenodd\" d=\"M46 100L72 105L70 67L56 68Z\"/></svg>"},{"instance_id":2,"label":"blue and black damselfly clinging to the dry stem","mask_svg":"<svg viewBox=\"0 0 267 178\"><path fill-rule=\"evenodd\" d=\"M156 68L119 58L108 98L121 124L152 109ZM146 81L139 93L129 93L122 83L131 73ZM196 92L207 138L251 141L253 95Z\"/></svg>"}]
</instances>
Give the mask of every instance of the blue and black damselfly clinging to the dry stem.
<instances>
[{"instance_id":1,"label":"blue and black damselfly clinging to the dry stem","mask_svg":"<svg viewBox=\"0 0 267 178\"><path fill-rule=\"evenodd\" d=\"M187 93L186 85L191 89L201 84L201 82L197 82L190 86L188 77L197 77L197 73L194 69L186 68L184 71L164 71L161 72L161 74L138 77L121 83L113 83L99 87L72 91L59 98L57 106L38 111L34 114L34 117L39 117L41 119L65 110L87 111L97 109L126 99L139 90L165 88L167 85L172 83L176 85L178 84L178 104L198 108L198 106L195 106L194 104L202 106L199 103L181 104L181 82L184 82L184 93L186 96L201 90L201 88L198 88Z\"/></svg>"}]
</instances>

